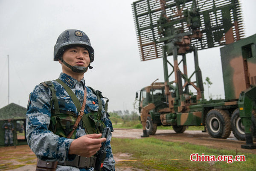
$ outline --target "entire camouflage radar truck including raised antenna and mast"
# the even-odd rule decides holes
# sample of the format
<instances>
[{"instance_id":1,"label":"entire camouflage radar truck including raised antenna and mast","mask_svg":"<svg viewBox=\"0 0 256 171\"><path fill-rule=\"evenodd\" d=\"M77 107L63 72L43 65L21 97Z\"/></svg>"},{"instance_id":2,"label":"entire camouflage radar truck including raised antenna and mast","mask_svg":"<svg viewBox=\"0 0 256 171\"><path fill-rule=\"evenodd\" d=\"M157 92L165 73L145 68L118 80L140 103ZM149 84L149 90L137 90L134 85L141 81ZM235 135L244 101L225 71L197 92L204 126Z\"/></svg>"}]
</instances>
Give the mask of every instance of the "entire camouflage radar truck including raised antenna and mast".
<instances>
[{"instance_id":1,"label":"entire camouflage radar truck including raised antenna and mast","mask_svg":"<svg viewBox=\"0 0 256 171\"><path fill-rule=\"evenodd\" d=\"M256 148L256 35L242 39L239 1L139 0L132 8L141 61L163 58L164 82L140 91L143 137L154 135L157 125L172 125L176 133L205 126L214 138L226 139L232 130L246 140L242 148ZM223 46L225 99L207 101L198 50L217 46ZM195 71L189 75L186 54L191 52Z\"/></svg>"}]
</instances>

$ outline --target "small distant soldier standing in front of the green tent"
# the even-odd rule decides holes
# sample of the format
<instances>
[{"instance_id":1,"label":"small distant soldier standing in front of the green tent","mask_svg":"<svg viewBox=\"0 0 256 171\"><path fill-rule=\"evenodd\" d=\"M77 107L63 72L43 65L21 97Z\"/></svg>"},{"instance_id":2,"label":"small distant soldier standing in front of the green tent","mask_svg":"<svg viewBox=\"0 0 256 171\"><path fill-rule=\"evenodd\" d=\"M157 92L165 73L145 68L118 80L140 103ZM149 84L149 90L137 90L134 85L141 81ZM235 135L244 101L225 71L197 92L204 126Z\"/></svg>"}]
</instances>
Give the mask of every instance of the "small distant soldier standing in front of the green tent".
<instances>
[{"instance_id":1,"label":"small distant soldier standing in front of the green tent","mask_svg":"<svg viewBox=\"0 0 256 171\"><path fill-rule=\"evenodd\" d=\"M12 131L14 129L14 126L13 126L13 123L11 122L11 119L8 119L8 122L4 123L2 128L4 129L4 145L8 146L10 142L10 146L12 146L13 145Z\"/></svg>"}]
</instances>

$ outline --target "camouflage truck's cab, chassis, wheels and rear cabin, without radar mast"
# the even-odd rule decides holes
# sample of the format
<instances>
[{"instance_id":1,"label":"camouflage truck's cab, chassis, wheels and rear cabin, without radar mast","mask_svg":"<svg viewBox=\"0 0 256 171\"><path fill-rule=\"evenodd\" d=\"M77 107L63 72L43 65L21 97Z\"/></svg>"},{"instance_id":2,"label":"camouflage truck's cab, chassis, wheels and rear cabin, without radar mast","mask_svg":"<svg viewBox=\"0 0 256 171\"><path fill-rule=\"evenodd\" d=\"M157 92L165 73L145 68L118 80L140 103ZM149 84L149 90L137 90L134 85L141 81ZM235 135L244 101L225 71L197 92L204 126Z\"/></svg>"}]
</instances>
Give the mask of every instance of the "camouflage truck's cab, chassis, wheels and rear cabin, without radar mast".
<instances>
[{"instance_id":1,"label":"camouflage truck's cab, chassis, wheels and rear cabin, without radar mast","mask_svg":"<svg viewBox=\"0 0 256 171\"><path fill-rule=\"evenodd\" d=\"M232 130L237 139L245 140L244 126L239 117L238 99L242 91L256 84L256 54L252 55L255 44L256 35L253 35L221 48L225 99L197 100L197 95L187 90L182 96L176 96L172 87L166 96L164 82L153 82L140 90L139 112L141 113L142 108L148 104L153 103L155 106L148 113L147 133L154 135L157 126L160 125L172 125L176 133L183 133L188 126L205 125L209 135L214 138L227 138ZM246 70L244 66L247 66ZM166 98L171 100L166 102ZM173 113L165 112L169 110L169 102L173 105ZM254 111L252 119L252 130L256 130ZM256 133L253 133L256 136Z\"/></svg>"}]
</instances>

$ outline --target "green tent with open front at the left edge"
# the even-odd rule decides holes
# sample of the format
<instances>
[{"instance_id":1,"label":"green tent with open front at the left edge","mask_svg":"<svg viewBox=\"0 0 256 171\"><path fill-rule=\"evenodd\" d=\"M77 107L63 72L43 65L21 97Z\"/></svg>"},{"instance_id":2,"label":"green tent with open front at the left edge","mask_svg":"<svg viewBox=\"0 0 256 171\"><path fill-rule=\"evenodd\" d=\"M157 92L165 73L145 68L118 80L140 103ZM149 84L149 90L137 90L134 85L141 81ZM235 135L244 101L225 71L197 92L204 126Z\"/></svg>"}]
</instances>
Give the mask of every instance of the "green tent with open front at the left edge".
<instances>
[{"instance_id":1,"label":"green tent with open front at the left edge","mask_svg":"<svg viewBox=\"0 0 256 171\"><path fill-rule=\"evenodd\" d=\"M24 145L26 142L26 108L11 103L0 109L0 146L4 145L3 124L11 119L14 125L13 138L15 145Z\"/></svg>"}]
</instances>

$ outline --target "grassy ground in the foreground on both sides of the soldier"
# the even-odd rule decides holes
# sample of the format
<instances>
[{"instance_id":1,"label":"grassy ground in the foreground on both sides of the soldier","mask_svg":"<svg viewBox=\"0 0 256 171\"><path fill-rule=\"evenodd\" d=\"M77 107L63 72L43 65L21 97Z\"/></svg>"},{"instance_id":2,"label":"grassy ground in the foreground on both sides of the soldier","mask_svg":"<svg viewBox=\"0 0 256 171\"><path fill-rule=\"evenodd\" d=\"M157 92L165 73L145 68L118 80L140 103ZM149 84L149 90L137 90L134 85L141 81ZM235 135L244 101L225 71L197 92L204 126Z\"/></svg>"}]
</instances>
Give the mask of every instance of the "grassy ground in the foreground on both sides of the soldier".
<instances>
[{"instance_id":1,"label":"grassy ground in the foreground on both sides of the soldier","mask_svg":"<svg viewBox=\"0 0 256 171\"><path fill-rule=\"evenodd\" d=\"M255 154L237 154L235 150L219 150L203 145L181 142L167 142L149 137L146 139L112 138L113 155L125 154L116 161L116 171L255 171ZM245 162L192 162L190 155L245 155ZM125 161L123 161L125 160ZM0 147L0 170L22 170L24 165L35 167L35 154L28 145ZM126 171L126 170L125 170Z\"/></svg>"}]
</instances>

